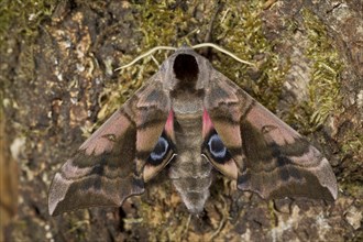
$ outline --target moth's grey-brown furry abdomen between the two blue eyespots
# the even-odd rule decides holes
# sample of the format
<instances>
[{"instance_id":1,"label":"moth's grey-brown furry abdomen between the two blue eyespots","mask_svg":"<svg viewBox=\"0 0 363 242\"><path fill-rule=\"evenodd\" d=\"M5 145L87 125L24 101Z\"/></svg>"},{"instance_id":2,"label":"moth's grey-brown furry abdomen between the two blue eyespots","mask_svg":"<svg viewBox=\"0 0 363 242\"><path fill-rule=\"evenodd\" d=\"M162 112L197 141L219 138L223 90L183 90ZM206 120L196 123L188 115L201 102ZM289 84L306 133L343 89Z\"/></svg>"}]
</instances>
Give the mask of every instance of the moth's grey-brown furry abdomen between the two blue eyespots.
<instances>
[{"instance_id":1,"label":"moth's grey-brown furry abdomen between the two blue eyespots","mask_svg":"<svg viewBox=\"0 0 363 242\"><path fill-rule=\"evenodd\" d=\"M175 113L177 155L170 164L169 177L188 210L202 211L212 182L211 164L201 156L202 111Z\"/></svg>"}]
</instances>

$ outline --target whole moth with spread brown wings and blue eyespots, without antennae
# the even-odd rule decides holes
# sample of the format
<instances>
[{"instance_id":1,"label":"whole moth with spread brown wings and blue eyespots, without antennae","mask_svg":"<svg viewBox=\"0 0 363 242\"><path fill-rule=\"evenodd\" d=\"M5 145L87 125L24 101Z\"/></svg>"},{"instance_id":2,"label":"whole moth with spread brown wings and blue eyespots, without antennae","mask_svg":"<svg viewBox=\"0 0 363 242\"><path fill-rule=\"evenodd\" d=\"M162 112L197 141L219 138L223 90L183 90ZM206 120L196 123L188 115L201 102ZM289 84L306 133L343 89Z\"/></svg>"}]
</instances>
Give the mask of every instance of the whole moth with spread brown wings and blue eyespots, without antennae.
<instances>
[{"instance_id":1,"label":"whole moth with spread brown wings and blue eyespots, without antennae","mask_svg":"<svg viewBox=\"0 0 363 242\"><path fill-rule=\"evenodd\" d=\"M121 206L163 168L191 213L216 172L262 198L334 200L327 158L193 48L179 47L55 174L55 216Z\"/></svg>"}]
</instances>

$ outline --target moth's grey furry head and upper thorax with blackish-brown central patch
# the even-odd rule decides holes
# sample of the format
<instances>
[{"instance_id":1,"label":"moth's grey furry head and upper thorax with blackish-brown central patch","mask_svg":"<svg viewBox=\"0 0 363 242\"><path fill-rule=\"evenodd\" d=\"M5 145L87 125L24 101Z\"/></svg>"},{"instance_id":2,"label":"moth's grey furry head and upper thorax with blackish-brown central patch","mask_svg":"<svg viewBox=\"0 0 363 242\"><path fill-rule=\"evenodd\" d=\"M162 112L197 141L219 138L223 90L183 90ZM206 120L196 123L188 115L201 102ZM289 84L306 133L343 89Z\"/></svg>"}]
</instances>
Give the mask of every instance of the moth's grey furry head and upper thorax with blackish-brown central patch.
<instances>
[{"instance_id":1,"label":"moth's grey furry head and upper thorax with blackish-brown central patch","mask_svg":"<svg viewBox=\"0 0 363 242\"><path fill-rule=\"evenodd\" d=\"M204 89L208 86L210 69L208 59L184 45L165 59L161 67L164 88L167 90Z\"/></svg>"}]
</instances>

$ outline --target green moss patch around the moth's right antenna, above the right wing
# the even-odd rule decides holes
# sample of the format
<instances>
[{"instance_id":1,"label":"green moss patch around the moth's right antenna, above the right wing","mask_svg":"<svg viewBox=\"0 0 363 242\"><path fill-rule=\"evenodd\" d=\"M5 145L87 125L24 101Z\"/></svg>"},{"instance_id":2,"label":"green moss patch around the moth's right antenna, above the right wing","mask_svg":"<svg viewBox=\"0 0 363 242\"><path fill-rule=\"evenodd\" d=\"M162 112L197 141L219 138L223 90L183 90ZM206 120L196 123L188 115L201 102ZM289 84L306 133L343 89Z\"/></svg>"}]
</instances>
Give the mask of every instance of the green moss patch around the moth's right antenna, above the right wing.
<instances>
[{"instance_id":1,"label":"green moss patch around the moth's right antenna, above the right wing","mask_svg":"<svg viewBox=\"0 0 363 242\"><path fill-rule=\"evenodd\" d=\"M282 66L278 55L273 52L276 43L268 41L263 33L260 16L263 2L253 0L240 4L239 1L229 1L224 9L216 21L217 42L240 58L256 63L258 69L251 69L228 56L222 64L215 66L274 110L283 90L287 66Z\"/></svg>"}]
</instances>

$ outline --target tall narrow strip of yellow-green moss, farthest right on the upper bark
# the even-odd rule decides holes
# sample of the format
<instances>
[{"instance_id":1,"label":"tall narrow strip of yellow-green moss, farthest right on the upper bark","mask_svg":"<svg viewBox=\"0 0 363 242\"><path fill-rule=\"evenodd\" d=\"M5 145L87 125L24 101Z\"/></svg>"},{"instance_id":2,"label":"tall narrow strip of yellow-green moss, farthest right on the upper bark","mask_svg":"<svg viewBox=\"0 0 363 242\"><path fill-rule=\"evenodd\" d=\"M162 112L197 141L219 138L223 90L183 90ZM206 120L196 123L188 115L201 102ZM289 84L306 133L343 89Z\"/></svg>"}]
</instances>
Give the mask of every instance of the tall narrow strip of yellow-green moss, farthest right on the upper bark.
<instances>
[{"instance_id":1,"label":"tall narrow strip of yellow-green moss, farthest right on the upper bark","mask_svg":"<svg viewBox=\"0 0 363 242\"><path fill-rule=\"evenodd\" d=\"M329 114L342 111L339 76L342 62L337 50L331 45L326 26L309 10L302 10L309 47L306 55L312 62L309 82L308 114L310 129L316 130Z\"/></svg>"}]
</instances>

